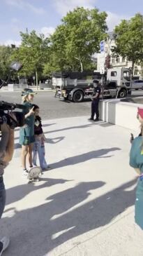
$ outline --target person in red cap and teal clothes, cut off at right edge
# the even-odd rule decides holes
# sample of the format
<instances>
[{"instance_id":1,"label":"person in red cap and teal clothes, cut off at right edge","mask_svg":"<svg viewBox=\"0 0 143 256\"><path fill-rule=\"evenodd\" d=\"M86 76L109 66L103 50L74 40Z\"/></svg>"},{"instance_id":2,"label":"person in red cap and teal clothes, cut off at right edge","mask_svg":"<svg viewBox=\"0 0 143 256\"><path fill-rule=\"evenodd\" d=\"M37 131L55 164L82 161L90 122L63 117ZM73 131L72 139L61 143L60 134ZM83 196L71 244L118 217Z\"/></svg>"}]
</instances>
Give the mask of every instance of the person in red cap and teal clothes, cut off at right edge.
<instances>
[{"instance_id":1,"label":"person in red cap and teal clothes, cut off at right edge","mask_svg":"<svg viewBox=\"0 0 143 256\"><path fill-rule=\"evenodd\" d=\"M130 149L130 166L139 176L135 200L135 222L143 229L143 109L138 108L137 118L141 123L142 135L136 137Z\"/></svg>"}]
</instances>

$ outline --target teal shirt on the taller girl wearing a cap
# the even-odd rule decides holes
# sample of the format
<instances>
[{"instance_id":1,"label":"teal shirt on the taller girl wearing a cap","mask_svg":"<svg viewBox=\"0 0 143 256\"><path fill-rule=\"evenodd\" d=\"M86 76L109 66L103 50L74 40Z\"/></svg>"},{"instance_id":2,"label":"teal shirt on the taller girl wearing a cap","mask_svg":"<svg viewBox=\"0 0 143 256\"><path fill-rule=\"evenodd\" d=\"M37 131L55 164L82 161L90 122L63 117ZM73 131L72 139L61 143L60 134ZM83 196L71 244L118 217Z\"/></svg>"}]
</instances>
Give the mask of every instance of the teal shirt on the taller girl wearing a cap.
<instances>
[{"instance_id":1,"label":"teal shirt on the taller girl wearing a cap","mask_svg":"<svg viewBox=\"0 0 143 256\"><path fill-rule=\"evenodd\" d=\"M26 107L23 110L24 115L26 115L33 105L29 102L24 102L23 105ZM20 128L20 137L32 137L34 135L34 120L34 115L28 116L27 119L25 119L25 126Z\"/></svg>"}]
</instances>

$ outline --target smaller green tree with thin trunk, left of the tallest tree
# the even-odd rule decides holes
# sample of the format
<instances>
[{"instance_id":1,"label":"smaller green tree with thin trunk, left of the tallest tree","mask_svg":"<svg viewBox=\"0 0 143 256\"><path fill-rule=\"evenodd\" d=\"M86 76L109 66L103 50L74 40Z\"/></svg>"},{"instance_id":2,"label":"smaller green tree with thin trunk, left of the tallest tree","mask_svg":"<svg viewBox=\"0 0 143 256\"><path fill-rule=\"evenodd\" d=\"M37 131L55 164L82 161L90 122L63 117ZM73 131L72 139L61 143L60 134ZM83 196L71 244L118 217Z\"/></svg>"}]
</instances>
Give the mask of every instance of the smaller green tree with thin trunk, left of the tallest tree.
<instances>
[{"instance_id":1,"label":"smaller green tree with thin trunk, left of the tallest tree","mask_svg":"<svg viewBox=\"0 0 143 256\"><path fill-rule=\"evenodd\" d=\"M45 39L43 34L38 36L34 30L30 34L20 32L20 35L22 43L20 48L15 49L13 60L22 62L23 68L20 74L36 75L36 85L38 85L38 75L43 72L48 58L49 39Z\"/></svg>"}]
</instances>

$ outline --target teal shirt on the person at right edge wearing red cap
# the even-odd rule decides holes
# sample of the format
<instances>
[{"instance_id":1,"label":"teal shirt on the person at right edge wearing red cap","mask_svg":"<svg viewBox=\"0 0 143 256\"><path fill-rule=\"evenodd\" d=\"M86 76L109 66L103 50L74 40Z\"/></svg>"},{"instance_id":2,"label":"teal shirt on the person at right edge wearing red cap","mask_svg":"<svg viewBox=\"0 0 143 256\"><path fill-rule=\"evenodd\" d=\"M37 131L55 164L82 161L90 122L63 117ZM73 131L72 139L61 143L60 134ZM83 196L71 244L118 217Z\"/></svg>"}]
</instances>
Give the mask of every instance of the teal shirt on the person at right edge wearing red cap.
<instances>
[{"instance_id":1,"label":"teal shirt on the person at right edge wearing red cap","mask_svg":"<svg viewBox=\"0 0 143 256\"><path fill-rule=\"evenodd\" d=\"M143 173L143 137L139 136L133 140L130 149L130 166L139 168Z\"/></svg>"}]
</instances>

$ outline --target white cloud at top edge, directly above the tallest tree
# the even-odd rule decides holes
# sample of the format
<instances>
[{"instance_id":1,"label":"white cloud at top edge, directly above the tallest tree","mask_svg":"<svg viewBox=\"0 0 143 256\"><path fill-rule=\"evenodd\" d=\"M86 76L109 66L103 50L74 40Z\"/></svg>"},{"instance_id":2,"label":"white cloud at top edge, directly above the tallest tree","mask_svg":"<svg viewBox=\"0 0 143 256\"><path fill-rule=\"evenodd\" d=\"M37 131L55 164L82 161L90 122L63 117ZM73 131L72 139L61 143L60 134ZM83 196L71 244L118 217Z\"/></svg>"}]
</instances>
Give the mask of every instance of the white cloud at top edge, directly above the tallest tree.
<instances>
[{"instance_id":1,"label":"white cloud at top edge, directly above the tallest tree","mask_svg":"<svg viewBox=\"0 0 143 256\"><path fill-rule=\"evenodd\" d=\"M57 13L66 15L68 11L73 11L77 6L84 8L94 8L97 0L54 0L53 5Z\"/></svg>"}]
</instances>

